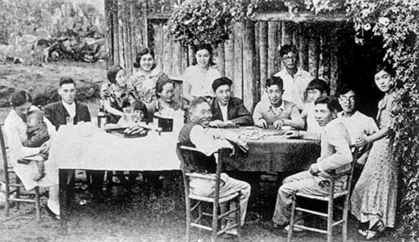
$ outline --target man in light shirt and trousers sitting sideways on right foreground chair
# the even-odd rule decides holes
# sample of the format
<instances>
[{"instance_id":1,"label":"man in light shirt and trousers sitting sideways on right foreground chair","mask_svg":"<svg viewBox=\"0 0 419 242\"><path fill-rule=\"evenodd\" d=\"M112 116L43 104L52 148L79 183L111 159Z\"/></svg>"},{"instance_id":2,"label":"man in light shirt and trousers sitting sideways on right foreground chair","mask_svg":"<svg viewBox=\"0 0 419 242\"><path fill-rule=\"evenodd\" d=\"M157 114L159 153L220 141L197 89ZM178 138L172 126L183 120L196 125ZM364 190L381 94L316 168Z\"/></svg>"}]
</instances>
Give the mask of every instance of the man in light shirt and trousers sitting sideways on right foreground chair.
<instances>
[{"instance_id":1,"label":"man in light shirt and trousers sitting sideways on right foreground chair","mask_svg":"<svg viewBox=\"0 0 419 242\"><path fill-rule=\"evenodd\" d=\"M300 192L308 195L327 196L329 171L335 169L336 174L343 174L351 169L352 153L349 147L351 140L344 124L337 117L339 104L334 97L319 97L315 101L315 120L324 127L321 134L321 155L317 162L310 165L308 171L301 171L288 176L279 187L277 203L272 221L276 226L287 225L290 220L292 194ZM288 138L304 138L300 131L288 131ZM305 132L304 132L305 133ZM346 185L346 175L335 181L335 192L342 191ZM296 214L295 223L304 224ZM289 230L289 225L284 227ZM301 229L294 228L294 231Z\"/></svg>"}]
</instances>

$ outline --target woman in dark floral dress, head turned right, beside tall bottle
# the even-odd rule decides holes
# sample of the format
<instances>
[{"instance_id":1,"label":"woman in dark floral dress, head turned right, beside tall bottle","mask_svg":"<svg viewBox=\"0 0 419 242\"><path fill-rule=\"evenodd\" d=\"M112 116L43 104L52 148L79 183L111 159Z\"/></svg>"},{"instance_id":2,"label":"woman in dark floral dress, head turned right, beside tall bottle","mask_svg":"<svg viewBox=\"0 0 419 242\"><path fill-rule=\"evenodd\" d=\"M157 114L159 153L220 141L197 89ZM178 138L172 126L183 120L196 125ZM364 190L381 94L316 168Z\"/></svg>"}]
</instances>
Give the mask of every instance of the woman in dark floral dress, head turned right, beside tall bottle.
<instances>
[{"instance_id":1,"label":"woman in dark floral dress, head turned right, beside tall bottle","mask_svg":"<svg viewBox=\"0 0 419 242\"><path fill-rule=\"evenodd\" d=\"M124 115L123 109L133 100L133 94L127 89L125 71L121 66L110 66L108 83L102 85L100 97L106 111L106 122L115 124Z\"/></svg>"}]
</instances>

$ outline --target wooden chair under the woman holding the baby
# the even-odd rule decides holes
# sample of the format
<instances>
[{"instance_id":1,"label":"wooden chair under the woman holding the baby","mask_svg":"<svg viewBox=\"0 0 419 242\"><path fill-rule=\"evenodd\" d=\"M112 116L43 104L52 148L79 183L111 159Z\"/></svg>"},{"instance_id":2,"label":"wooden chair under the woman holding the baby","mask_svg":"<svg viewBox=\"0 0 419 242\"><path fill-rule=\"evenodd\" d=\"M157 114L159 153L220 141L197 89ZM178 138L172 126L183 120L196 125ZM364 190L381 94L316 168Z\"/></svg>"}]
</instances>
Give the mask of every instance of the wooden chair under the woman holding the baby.
<instances>
[{"instance_id":1,"label":"wooden chair under the woman holding the baby","mask_svg":"<svg viewBox=\"0 0 419 242\"><path fill-rule=\"evenodd\" d=\"M5 215L9 216L9 210L11 203L15 202L16 207L19 210L19 203L35 203L35 214L37 221L41 221L41 206L39 203L39 187L34 188L35 198L22 198L22 196L33 196L34 193L29 193L28 191L24 190L24 185L19 180L19 177L16 176L16 183L10 183L10 174L14 174L13 167L8 164L8 157L7 157L7 150L8 147L6 146L5 138L3 135L3 126L4 124L0 124L0 145L1 145L1 156L3 157L3 167L4 167L4 193L6 196L5 201ZM15 194L15 198L12 198L12 194Z\"/></svg>"}]
</instances>

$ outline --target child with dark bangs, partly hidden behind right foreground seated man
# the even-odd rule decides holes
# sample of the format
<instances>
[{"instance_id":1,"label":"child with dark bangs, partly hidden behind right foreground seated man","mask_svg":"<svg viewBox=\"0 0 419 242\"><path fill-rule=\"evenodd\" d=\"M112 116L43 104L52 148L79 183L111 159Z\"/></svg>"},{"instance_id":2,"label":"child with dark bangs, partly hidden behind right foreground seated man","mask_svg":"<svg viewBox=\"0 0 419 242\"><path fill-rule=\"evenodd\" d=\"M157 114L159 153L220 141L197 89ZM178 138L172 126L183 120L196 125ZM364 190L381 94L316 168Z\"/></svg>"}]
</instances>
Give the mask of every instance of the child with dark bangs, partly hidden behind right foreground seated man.
<instances>
[{"instance_id":1,"label":"child with dark bangs, partly hidden behind right foreground seated man","mask_svg":"<svg viewBox=\"0 0 419 242\"><path fill-rule=\"evenodd\" d=\"M301 113L301 118L303 118L306 123L307 133L311 133L315 136L319 136L322 128L315 120L315 100L319 97L324 97L329 95L330 88L324 80L315 79L308 83L306 89L306 104L303 106L303 111Z\"/></svg>"}]
</instances>

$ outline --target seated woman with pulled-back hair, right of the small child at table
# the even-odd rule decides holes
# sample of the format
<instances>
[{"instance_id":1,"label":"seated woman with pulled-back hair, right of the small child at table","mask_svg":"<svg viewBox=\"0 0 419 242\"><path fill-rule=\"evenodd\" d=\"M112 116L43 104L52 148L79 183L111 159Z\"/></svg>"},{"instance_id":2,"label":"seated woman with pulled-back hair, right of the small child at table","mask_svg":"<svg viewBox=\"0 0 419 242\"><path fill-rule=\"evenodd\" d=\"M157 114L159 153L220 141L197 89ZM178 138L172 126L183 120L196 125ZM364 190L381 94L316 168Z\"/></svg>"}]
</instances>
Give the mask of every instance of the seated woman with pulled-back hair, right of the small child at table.
<instances>
[{"instance_id":1,"label":"seated woman with pulled-back hair, right of the small child at table","mask_svg":"<svg viewBox=\"0 0 419 242\"><path fill-rule=\"evenodd\" d=\"M151 117L157 112L168 111L168 109L176 111L183 108L180 102L174 100L174 91L174 82L167 75L160 75L156 82L156 95L158 99L147 105L147 110Z\"/></svg>"}]
</instances>

